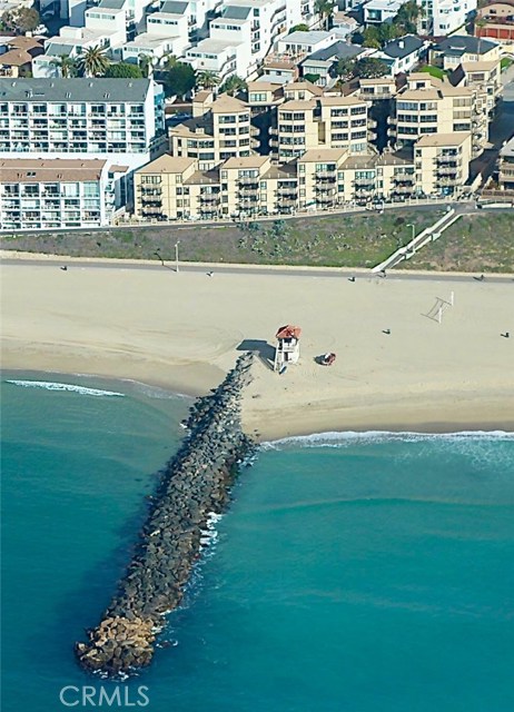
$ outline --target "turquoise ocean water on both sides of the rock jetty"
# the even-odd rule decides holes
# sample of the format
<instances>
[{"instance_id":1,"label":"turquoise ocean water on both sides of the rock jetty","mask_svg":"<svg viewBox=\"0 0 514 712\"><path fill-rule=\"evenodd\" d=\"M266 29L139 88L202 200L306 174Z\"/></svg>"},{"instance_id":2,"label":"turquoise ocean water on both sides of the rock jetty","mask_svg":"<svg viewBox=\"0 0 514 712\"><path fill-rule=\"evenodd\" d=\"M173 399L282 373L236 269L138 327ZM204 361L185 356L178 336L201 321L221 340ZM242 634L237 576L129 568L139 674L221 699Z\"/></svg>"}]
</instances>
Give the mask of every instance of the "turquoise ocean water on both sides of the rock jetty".
<instances>
[{"instance_id":1,"label":"turquoise ocean water on both sides of the rock jetty","mask_svg":"<svg viewBox=\"0 0 514 712\"><path fill-rule=\"evenodd\" d=\"M2 711L63 711L63 686L106 684L73 642L115 590L189 402L48 374L1 389ZM155 712L514 710L513 436L267 446L217 528L174 645L125 683L123 709L146 685Z\"/></svg>"}]
</instances>

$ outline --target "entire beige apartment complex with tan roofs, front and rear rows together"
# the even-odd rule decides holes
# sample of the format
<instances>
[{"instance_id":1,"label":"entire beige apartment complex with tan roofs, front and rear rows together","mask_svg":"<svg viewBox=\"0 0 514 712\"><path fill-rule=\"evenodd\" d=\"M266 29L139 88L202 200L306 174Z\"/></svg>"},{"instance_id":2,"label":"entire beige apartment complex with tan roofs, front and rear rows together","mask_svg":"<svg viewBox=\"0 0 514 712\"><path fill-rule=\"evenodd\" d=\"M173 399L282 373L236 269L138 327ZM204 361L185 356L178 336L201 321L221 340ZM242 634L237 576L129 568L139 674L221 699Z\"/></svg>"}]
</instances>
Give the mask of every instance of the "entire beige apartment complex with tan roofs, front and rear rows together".
<instances>
[{"instance_id":1,"label":"entire beige apartment complex with tan roofs, front and rear rows together","mask_svg":"<svg viewBox=\"0 0 514 712\"><path fill-rule=\"evenodd\" d=\"M192 118L170 129L171 155L135 171L135 216L291 215L457 196L469 161L487 144L498 71L495 60L465 62L452 81L427 73L411 75L402 87L368 79L348 96L308 81L249 82L247 101L199 92ZM370 145L369 111L384 99L395 107L389 135L396 150L379 155Z\"/></svg>"}]
</instances>

